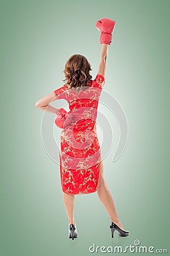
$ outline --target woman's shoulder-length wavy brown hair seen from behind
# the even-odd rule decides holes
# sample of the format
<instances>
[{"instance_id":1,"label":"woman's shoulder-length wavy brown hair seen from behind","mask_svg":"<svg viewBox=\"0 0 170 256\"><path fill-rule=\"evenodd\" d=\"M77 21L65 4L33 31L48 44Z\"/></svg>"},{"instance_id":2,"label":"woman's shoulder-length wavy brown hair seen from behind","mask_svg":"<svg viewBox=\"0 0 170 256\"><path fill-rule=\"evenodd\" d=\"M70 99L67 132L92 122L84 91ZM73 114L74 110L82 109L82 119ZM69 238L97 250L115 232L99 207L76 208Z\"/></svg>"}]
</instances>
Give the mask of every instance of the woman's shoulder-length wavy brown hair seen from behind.
<instances>
[{"instance_id":1,"label":"woman's shoulder-length wavy brown hair seen from behind","mask_svg":"<svg viewBox=\"0 0 170 256\"><path fill-rule=\"evenodd\" d=\"M66 79L62 79L62 81L66 82L65 85L68 89L76 88L75 90L79 90L80 87L87 86L87 82L92 79L90 71L92 69L87 58L80 54L74 54L66 62L63 71Z\"/></svg>"}]
</instances>

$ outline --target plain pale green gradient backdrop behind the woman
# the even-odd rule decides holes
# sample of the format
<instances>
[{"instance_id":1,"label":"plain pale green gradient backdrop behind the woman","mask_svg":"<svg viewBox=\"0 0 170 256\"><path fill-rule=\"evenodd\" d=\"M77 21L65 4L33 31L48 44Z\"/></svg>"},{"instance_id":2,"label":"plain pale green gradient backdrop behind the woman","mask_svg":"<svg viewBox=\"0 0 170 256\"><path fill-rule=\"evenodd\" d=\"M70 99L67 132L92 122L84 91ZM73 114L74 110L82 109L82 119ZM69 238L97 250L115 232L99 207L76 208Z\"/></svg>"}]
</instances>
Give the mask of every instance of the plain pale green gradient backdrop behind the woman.
<instances>
[{"instance_id":1,"label":"plain pale green gradient backdrop behind the woman","mask_svg":"<svg viewBox=\"0 0 170 256\"><path fill-rule=\"evenodd\" d=\"M43 112L35 103L63 85L74 53L87 57L95 77L101 18L117 22L104 89L120 102L129 125L124 154L113 163L119 130L108 112L116 138L104 172L130 236L111 239L110 218L95 192L75 196L79 238L71 241L59 166L44 150ZM168 32L165 0L1 1L2 256L84 256L93 243L125 247L135 239L169 249ZM59 138L61 130L55 132Z\"/></svg>"}]
</instances>

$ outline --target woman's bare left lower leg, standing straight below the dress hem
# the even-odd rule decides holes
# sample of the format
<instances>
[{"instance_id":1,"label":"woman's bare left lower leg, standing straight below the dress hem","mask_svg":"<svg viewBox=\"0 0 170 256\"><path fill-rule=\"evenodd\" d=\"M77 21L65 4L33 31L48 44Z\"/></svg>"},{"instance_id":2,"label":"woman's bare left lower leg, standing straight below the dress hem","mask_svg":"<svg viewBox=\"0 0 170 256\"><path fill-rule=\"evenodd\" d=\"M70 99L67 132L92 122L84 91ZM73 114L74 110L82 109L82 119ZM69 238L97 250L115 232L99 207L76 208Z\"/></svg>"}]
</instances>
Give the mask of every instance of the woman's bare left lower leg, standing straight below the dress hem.
<instances>
[{"instance_id":1,"label":"woman's bare left lower leg, standing straight below the dress hem","mask_svg":"<svg viewBox=\"0 0 170 256\"><path fill-rule=\"evenodd\" d=\"M74 220L74 202L75 202L75 195L69 195L65 192L62 192L63 195L63 203L65 204L69 225L73 223L76 225Z\"/></svg>"}]
</instances>

